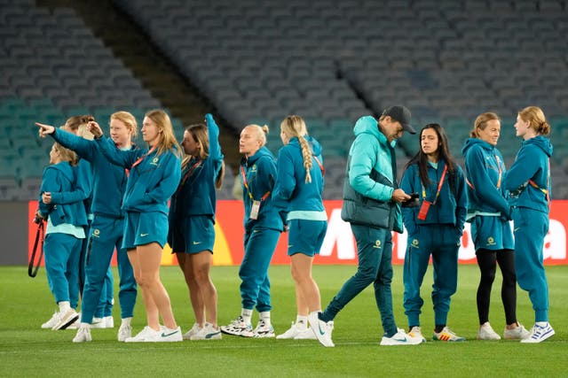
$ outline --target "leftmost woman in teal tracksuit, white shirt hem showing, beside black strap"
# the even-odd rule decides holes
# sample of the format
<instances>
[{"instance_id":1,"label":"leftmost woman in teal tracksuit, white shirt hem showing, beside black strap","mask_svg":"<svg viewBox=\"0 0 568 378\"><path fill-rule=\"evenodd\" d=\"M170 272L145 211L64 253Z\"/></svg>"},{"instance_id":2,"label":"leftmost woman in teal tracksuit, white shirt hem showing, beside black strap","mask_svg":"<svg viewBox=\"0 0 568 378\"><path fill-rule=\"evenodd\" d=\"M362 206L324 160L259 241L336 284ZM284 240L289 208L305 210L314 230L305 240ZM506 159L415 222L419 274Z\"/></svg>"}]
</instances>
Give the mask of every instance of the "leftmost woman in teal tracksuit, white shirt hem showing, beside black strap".
<instances>
[{"instance_id":1,"label":"leftmost woman in teal tracksuit, white shirt hem showing, beside black strap","mask_svg":"<svg viewBox=\"0 0 568 378\"><path fill-rule=\"evenodd\" d=\"M74 190L77 158L73 151L53 143L50 163L43 171L39 210L36 216L47 219L43 252L45 270L55 302L59 305L48 323L52 329L67 328L79 317L75 312L79 300L79 259L85 237L87 214L83 205L85 197L66 201L60 193ZM50 193L50 199L43 198ZM42 328L47 328L43 327Z\"/></svg>"}]
</instances>

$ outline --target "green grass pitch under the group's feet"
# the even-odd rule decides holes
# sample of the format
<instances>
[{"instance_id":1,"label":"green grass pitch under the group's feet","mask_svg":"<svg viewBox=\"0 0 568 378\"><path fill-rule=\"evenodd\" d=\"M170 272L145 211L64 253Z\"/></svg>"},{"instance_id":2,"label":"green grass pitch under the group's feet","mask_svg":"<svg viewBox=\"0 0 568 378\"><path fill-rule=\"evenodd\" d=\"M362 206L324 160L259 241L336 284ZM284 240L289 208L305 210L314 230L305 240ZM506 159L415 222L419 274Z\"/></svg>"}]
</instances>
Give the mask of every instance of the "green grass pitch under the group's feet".
<instances>
[{"instance_id":1,"label":"green grass pitch under the group's feet","mask_svg":"<svg viewBox=\"0 0 568 378\"><path fill-rule=\"evenodd\" d=\"M314 266L325 307L356 266ZM568 376L568 266L547 266L550 322L556 336L540 344L517 341L477 341L477 266L460 266L448 326L465 336L464 343L431 341L431 266L422 285L422 330L428 343L379 346L382 335L372 288L365 289L335 318L335 348L312 340L246 339L223 336L218 341L183 343L119 343L120 310L114 306L114 329L93 329L91 343L72 343L75 330L51 331L40 325L56 309L42 268L36 279L23 266L0 267L0 376L2 377L376 377L376 376ZM116 273L116 272L114 272ZM219 297L219 323L241 311L237 266L215 266L213 281ZM116 277L116 274L114 274ZM288 266L271 266L272 323L276 332L296 319L294 282ZM162 267L162 282L170 293L177 322L185 332L193 312L181 272ZM115 279L115 288L117 280ZM115 289L116 290L116 289ZM501 274L493 284L490 321L500 334L504 327ZM407 328L402 307L402 267L395 266L392 286L398 327ZM117 297L117 296L115 296ZM533 325L528 295L517 290L517 316ZM258 314L253 315L253 326ZM134 333L146 323L141 297L133 320Z\"/></svg>"}]
</instances>

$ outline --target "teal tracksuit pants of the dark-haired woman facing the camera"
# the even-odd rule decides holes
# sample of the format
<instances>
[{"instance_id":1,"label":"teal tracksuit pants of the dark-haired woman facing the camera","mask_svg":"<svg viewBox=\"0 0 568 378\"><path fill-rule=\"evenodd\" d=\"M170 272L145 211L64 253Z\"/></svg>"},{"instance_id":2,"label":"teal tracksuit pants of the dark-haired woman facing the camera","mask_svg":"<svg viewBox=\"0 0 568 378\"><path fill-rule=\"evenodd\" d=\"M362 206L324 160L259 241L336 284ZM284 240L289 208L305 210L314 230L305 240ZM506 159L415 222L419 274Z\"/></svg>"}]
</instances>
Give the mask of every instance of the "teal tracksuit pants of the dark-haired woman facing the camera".
<instances>
[{"instance_id":1,"label":"teal tracksuit pants of the dark-haired woman facing the camera","mask_svg":"<svg viewBox=\"0 0 568 378\"><path fill-rule=\"evenodd\" d=\"M419 226L418 230L418 234L408 236L404 264L404 306L408 325L420 326L424 304L420 288L430 256L434 268L434 321L436 325L446 325L451 297L458 283L459 239L452 225L424 225Z\"/></svg>"}]
</instances>

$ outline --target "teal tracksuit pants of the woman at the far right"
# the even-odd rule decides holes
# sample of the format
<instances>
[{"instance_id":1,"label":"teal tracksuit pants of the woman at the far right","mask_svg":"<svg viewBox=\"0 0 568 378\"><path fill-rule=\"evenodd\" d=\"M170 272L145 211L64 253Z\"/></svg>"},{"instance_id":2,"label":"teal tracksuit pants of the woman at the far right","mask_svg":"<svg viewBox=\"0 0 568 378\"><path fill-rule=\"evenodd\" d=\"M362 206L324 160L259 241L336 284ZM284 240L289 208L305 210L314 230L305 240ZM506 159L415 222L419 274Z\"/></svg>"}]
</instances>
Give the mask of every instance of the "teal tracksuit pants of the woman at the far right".
<instances>
[{"instance_id":1,"label":"teal tracksuit pants of the woman at the far right","mask_svg":"<svg viewBox=\"0 0 568 378\"><path fill-rule=\"evenodd\" d=\"M548 321L548 282L542 249L548 232L548 214L514 207L515 270L521 289L529 292L534 321Z\"/></svg>"}]
</instances>

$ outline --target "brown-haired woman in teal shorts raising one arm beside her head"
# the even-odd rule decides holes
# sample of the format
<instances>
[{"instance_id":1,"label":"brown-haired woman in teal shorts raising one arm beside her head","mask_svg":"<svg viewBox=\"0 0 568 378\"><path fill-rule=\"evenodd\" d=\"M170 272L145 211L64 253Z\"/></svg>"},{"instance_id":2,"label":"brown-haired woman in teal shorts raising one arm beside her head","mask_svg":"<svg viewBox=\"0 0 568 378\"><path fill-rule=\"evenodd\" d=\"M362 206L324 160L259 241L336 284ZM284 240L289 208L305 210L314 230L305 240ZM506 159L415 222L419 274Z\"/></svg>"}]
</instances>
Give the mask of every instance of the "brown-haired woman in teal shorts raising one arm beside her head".
<instances>
[{"instance_id":1,"label":"brown-haired woman in teal shorts raising one arm beside her head","mask_svg":"<svg viewBox=\"0 0 568 378\"><path fill-rule=\"evenodd\" d=\"M181 143L186 157L176 193L171 197L168 243L185 276L195 324L185 333L189 340L221 338L217 326L217 289L210 269L215 243L216 189L221 189L225 164L219 127L211 114L185 128Z\"/></svg>"}]
</instances>

